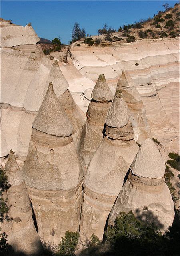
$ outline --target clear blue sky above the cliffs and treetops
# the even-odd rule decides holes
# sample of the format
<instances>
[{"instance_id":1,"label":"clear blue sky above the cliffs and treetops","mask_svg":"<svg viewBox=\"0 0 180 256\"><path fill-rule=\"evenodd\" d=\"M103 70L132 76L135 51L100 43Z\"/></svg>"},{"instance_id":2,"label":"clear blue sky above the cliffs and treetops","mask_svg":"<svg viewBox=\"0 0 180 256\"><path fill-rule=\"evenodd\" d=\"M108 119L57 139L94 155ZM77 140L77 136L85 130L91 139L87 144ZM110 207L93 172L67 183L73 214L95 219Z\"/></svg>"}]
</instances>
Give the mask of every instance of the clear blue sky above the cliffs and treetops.
<instances>
[{"instance_id":1,"label":"clear blue sky above the cliffs and treetops","mask_svg":"<svg viewBox=\"0 0 180 256\"><path fill-rule=\"evenodd\" d=\"M153 17L166 2L174 6L178 1L1 1L1 17L22 26L30 22L39 37L60 36L67 44L75 21L96 35L104 22L118 29Z\"/></svg>"}]
</instances>

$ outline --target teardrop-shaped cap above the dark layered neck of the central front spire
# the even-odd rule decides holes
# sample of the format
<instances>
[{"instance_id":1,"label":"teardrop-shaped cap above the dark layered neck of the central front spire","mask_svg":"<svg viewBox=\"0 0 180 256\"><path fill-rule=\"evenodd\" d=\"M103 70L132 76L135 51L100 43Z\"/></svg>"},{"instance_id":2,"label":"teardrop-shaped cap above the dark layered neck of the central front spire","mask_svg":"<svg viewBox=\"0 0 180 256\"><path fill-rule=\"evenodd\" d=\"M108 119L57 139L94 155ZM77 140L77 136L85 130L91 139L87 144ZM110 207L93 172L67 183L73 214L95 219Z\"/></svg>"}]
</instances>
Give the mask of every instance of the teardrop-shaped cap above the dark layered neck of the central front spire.
<instances>
[{"instance_id":1,"label":"teardrop-shaped cap above the dark layered neck of the central front spire","mask_svg":"<svg viewBox=\"0 0 180 256\"><path fill-rule=\"evenodd\" d=\"M130 118L130 111L120 91L116 90L114 100L106 118L106 124L110 127L122 128L128 123Z\"/></svg>"}]
</instances>

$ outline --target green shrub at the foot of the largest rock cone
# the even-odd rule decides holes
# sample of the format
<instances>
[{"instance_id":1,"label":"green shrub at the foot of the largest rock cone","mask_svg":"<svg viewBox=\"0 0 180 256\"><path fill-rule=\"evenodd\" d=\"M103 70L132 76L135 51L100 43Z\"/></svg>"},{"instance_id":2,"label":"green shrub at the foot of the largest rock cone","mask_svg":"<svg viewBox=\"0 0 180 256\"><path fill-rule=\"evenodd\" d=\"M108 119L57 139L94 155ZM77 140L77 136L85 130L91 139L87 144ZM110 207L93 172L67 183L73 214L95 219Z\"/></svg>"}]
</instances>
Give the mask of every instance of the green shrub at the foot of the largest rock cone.
<instances>
[{"instance_id":1,"label":"green shrub at the foot of the largest rock cone","mask_svg":"<svg viewBox=\"0 0 180 256\"><path fill-rule=\"evenodd\" d=\"M57 255L59 256L74 256L76 246L78 244L79 233L66 231L65 236L61 237L62 241L59 244Z\"/></svg>"}]
</instances>

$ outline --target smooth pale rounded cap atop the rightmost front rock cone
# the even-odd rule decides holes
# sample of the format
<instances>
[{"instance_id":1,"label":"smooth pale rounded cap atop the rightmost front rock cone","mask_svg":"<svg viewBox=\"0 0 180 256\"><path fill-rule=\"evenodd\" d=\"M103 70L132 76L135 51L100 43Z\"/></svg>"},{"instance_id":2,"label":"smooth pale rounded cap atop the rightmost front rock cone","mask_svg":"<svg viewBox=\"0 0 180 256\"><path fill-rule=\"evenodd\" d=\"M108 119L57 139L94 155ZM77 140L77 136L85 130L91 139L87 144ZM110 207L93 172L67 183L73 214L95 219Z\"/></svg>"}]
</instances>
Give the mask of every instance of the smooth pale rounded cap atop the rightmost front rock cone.
<instances>
[{"instance_id":1,"label":"smooth pale rounded cap atop the rightmost front rock cone","mask_svg":"<svg viewBox=\"0 0 180 256\"><path fill-rule=\"evenodd\" d=\"M164 172L164 160L153 140L147 138L138 151L132 173L144 178L162 178Z\"/></svg>"}]
</instances>

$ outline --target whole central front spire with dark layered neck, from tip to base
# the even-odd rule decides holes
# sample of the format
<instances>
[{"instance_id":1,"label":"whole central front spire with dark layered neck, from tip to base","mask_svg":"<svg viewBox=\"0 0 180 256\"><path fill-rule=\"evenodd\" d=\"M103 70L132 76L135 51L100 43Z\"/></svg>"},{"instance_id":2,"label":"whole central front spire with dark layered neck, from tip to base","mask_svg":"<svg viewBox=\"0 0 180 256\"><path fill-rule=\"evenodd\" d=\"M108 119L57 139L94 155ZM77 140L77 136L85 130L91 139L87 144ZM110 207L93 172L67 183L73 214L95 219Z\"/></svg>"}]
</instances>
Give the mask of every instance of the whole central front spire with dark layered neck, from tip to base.
<instances>
[{"instance_id":1,"label":"whole central front spire with dark layered neck, from tip to base","mask_svg":"<svg viewBox=\"0 0 180 256\"><path fill-rule=\"evenodd\" d=\"M84 202L80 239L94 233L102 239L110 210L123 185L138 145L130 123L130 111L116 92L106 118L105 136L88 166L84 178Z\"/></svg>"}]
</instances>

